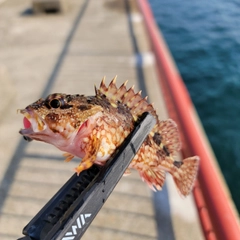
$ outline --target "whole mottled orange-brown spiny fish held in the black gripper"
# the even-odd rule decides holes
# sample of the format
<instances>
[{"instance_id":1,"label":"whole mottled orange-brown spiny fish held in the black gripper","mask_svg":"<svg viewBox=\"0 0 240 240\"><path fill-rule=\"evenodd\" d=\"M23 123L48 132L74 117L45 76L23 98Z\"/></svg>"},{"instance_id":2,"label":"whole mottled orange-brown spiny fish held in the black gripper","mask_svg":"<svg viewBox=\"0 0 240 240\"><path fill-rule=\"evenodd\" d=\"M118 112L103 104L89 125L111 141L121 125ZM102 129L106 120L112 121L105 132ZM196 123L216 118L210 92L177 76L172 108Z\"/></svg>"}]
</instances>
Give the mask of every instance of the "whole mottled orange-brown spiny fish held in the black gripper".
<instances>
[{"instance_id":1,"label":"whole mottled orange-brown spiny fish held in the black gripper","mask_svg":"<svg viewBox=\"0 0 240 240\"><path fill-rule=\"evenodd\" d=\"M107 86L105 78L95 86L94 96L53 93L19 110L23 125L19 133L28 141L52 144L65 161L81 158L75 168L79 175L93 164L104 165L133 131L143 113L148 112L156 124L144 140L124 175L132 169L154 191L161 190L166 174L173 177L180 195L192 191L200 159L192 156L177 160L181 141L177 124L172 119L159 120L153 105L134 86L120 87L116 77Z\"/></svg>"}]
</instances>

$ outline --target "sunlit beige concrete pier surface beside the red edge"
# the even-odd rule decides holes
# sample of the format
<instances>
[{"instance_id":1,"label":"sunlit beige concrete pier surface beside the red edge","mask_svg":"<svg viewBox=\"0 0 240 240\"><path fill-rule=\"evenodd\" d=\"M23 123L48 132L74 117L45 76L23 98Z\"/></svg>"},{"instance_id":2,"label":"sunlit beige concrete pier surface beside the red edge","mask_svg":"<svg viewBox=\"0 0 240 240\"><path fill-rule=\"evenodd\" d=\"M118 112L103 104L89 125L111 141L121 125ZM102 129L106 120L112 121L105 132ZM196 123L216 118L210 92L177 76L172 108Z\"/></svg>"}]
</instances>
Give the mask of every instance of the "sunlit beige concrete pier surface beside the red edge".
<instances>
[{"instance_id":1,"label":"sunlit beige concrete pier surface beside the red edge","mask_svg":"<svg viewBox=\"0 0 240 240\"><path fill-rule=\"evenodd\" d=\"M0 1L0 239L23 227L71 177L78 164L18 134L17 109L49 93L94 94L118 75L154 102L167 119L154 56L135 0L70 0L64 13L32 12L28 0ZM4 75L4 76L3 76ZM2 74L5 78L5 74ZM97 199L96 199L97 201ZM153 194L133 173L123 177L85 233L87 239L203 239L192 196L181 198L167 180Z\"/></svg>"}]
</instances>

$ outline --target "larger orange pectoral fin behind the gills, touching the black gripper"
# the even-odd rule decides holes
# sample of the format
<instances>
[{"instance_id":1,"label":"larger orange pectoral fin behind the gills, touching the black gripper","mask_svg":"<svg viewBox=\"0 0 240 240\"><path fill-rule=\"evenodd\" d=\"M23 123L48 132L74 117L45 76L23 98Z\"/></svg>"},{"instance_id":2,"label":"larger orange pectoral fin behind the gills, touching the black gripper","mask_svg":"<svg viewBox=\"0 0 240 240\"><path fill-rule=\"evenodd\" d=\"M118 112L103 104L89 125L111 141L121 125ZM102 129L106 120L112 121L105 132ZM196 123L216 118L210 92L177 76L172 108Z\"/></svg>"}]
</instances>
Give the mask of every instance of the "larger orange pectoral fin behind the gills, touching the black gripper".
<instances>
[{"instance_id":1,"label":"larger orange pectoral fin behind the gills, touching the black gripper","mask_svg":"<svg viewBox=\"0 0 240 240\"><path fill-rule=\"evenodd\" d=\"M82 171L90 168L96 161L97 153L100 148L101 140L96 136L92 136L89 144L86 146L86 155L82 158L80 164L75 168L75 172L79 175Z\"/></svg>"}]
</instances>

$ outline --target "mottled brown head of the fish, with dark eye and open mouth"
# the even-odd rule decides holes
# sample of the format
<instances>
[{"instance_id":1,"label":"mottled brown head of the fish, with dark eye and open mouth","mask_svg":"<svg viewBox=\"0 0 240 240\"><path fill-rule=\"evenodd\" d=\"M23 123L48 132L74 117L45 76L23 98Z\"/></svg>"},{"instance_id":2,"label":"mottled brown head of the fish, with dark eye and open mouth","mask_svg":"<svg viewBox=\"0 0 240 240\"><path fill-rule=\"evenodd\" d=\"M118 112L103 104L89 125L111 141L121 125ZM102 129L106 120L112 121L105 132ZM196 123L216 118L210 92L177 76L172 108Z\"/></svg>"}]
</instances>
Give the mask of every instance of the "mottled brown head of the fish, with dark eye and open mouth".
<instances>
[{"instance_id":1,"label":"mottled brown head of the fish, with dark eye and open mouth","mask_svg":"<svg viewBox=\"0 0 240 240\"><path fill-rule=\"evenodd\" d=\"M24 128L19 131L27 140L38 140L62 148L76 136L89 134L102 107L91 97L54 93L19 110Z\"/></svg>"}]
</instances>

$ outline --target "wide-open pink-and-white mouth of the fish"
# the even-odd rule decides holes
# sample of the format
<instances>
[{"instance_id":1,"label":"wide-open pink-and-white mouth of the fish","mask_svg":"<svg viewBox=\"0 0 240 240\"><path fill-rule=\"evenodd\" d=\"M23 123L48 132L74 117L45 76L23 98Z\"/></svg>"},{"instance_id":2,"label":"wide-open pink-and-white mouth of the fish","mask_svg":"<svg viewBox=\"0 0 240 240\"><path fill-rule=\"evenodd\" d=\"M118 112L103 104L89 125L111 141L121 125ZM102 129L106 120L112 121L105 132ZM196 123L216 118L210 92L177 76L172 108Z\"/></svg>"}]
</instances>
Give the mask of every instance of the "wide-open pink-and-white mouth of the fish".
<instances>
[{"instance_id":1,"label":"wide-open pink-and-white mouth of the fish","mask_svg":"<svg viewBox=\"0 0 240 240\"><path fill-rule=\"evenodd\" d=\"M23 136L30 137L37 133L44 131L47 128L44 120L36 114L31 109L21 109L19 110L21 114L23 114L23 126L19 133ZM29 139L28 139L29 140Z\"/></svg>"}]
</instances>

